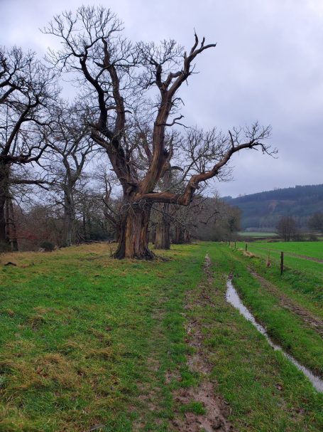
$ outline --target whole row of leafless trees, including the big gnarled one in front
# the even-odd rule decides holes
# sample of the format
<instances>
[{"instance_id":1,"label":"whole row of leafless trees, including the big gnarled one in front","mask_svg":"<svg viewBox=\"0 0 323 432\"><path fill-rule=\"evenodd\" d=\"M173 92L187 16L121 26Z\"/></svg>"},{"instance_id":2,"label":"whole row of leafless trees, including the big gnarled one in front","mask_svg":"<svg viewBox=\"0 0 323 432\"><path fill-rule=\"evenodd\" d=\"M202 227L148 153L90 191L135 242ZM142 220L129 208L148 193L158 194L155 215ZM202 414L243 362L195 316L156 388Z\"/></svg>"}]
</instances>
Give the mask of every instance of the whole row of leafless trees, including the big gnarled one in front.
<instances>
[{"instance_id":1,"label":"whole row of leafless trees, including the big gnarled one in front","mask_svg":"<svg viewBox=\"0 0 323 432\"><path fill-rule=\"evenodd\" d=\"M109 9L92 6L55 16L43 31L61 47L47 63L20 48L0 50L0 242L13 237L13 200L23 185L53 194L71 244L77 191L92 181L116 231L116 258L153 258L152 211L155 243L168 247L174 211L194 206L210 179L228 179L234 153L272 153L270 127L258 122L227 133L182 127L180 88L214 43L196 34L189 51L172 40L132 43ZM62 77L78 89L72 103L61 97ZM98 158L104 167L89 179L84 168Z\"/></svg>"}]
</instances>

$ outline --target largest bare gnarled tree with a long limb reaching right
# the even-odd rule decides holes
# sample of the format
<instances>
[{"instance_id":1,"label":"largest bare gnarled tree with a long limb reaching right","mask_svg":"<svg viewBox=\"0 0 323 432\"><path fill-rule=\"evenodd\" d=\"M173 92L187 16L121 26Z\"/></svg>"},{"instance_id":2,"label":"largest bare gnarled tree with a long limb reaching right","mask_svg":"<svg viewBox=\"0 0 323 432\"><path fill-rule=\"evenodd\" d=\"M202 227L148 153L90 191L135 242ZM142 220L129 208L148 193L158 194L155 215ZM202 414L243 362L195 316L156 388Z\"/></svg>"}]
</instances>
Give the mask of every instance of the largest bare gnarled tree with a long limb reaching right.
<instances>
[{"instance_id":1,"label":"largest bare gnarled tree with a long limb reaching right","mask_svg":"<svg viewBox=\"0 0 323 432\"><path fill-rule=\"evenodd\" d=\"M231 156L242 149L261 148L269 128L254 125L241 134L229 133L213 143L217 153L209 157L204 171L193 174L180 194L159 190L160 177L168 164L166 130L180 122L178 91L194 71L196 58L214 48L204 38L184 51L175 41L132 44L122 38L123 26L111 11L84 7L75 14L55 16L45 33L60 38L62 48L50 51L50 61L61 70L73 73L80 81L84 97L97 108L92 124L92 139L109 156L111 167L123 190L121 233L116 258L153 258L148 248L148 223L154 203L181 204L192 201L199 183L216 177ZM151 98L156 90L155 100ZM150 122L148 143L138 137L142 120ZM139 153L148 160L143 169Z\"/></svg>"}]
</instances>

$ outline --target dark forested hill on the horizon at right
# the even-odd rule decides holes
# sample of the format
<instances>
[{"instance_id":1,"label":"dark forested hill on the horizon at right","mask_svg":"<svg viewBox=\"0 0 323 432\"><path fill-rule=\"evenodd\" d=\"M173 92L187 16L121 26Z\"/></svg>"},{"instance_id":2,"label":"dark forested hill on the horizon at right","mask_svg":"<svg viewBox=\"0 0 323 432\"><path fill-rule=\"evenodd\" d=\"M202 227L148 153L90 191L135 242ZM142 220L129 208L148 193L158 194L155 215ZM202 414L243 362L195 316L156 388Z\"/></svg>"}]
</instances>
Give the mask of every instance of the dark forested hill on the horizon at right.
<instances>
[{"instance_id":1,"label":"dark forested hill on the horizon at right","mask_svg":"<svg viewBox=\"0 0 323 432\"><path fill-rule=\"evenodd\" d=\"M315 211L323 211L323 184L295 186L258 194L223 198L242 211L241 228L273 228L281 216L292 216L306 228Z\"/></svg>"}]
</instances>

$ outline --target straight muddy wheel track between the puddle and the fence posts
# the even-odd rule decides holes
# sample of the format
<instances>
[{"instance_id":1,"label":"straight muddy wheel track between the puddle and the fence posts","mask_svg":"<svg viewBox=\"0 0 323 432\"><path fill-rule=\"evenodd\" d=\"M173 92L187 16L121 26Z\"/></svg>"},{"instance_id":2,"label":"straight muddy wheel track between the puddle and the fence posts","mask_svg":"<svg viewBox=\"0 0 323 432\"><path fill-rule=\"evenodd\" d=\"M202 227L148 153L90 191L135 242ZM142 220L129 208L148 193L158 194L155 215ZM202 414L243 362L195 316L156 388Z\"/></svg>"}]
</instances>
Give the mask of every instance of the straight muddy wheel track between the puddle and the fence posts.
<instances>
[{"instance_id":1,"label":"straight muddy wheel track between the puddle and the fence posts","mask_svg":"<svg viewBox=\"0 0 323 432\"><path fill-rule=\"evenodd\" d=\"M256 271L252 268L248 267L248 271L251 273L251 275L253 275L253 278L258 280L259 283L261 283L261 286L265 288L265 290L267 290L269 293L272 293L276 298L278 298L280 306L285 307L286 309L290 310L292 313L300 317L300 319L302 320L302 322L305 323L305 325L309 325L310 327L312 327L312 329L314 329L323 337L322 320L312 315L311 312L309 312L304 307L298 305L297 302L295 302L294 300L291 300L290 297L282 293L279 288L277 288L267 279L256 273Z\"/></svg>"}]
</instances>

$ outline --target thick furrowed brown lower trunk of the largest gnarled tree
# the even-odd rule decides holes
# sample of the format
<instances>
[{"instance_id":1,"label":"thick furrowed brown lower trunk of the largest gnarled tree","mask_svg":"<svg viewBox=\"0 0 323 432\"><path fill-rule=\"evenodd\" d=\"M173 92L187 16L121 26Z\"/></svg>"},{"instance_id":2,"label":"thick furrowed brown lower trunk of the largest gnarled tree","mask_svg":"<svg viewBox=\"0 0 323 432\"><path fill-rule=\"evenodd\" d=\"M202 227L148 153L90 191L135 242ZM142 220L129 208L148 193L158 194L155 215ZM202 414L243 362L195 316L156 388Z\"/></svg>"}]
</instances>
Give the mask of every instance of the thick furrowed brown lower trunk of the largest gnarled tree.
<instances>
[{"instance_id":1,"label":"thick furrowed brown lower trunk of the largest gnarled tree","mask_svg":"<svg viewBox=\"0 0 323 432\"><path fill-rule=\"evenodd\" d=\"M151 204L128 204L128 211L121 219L119 246L114 254L115 258L154 258L153 252L148 248L150 210Z\"/></svg>"}]
</instances>

